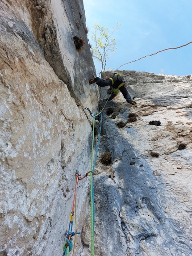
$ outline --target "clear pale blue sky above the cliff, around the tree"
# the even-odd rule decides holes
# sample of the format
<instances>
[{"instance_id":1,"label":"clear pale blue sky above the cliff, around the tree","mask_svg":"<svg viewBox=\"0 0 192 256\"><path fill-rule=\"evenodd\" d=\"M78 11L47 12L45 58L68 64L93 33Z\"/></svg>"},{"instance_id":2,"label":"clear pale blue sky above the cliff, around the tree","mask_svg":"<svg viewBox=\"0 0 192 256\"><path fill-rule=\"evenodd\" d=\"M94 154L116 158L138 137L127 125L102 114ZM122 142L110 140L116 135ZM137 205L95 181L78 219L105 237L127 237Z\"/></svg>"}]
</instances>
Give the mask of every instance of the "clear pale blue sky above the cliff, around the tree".
<instances>
[{"instance_id":1,"label":"clear pale blue sky above the cliff, around the tree","mask_svg":"<svg viewBox=\"0 0 192 256\"><path fill-rule=\"evenodd\" d=\"M177 47L192 41L192 0L83 0L88 38L93 25L108 27L117 22L116 47L109 55L107 69L151 55L159 50ZM94 60L99 73L100 64ZM192 44L176 50L166 50L122 66L119 70L135 70L186 76L192 74Z\"/></svg>"}]
</instances>

